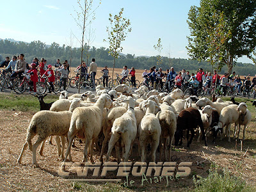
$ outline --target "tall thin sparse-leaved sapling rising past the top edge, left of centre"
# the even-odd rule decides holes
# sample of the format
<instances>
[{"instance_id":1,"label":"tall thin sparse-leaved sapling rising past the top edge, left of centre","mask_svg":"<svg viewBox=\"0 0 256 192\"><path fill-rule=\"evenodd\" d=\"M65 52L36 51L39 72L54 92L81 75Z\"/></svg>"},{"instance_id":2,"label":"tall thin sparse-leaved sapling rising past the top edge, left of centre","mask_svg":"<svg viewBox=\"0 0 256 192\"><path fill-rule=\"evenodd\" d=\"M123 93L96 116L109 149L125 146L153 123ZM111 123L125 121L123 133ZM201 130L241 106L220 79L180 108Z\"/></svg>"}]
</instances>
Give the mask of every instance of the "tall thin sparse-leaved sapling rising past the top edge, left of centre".
<instances>
[{"instance_id":1,"label":"tall thin sparse-leaved sapling rising past the top edge, left of centre","mask_svg":"<svg viewBox=\"0 0 256 192\"><path fill-rule=\"evenodd\" d=\"M93 8L93 0L83 0L82 3L80 0L77 0L77 3L79 5L80 11L75 10L75 12L77 13L77 18L74 18L74 17L73 18L76 21L76 24L79 27L79 29L81 29L81 33L82 33L81 40L77 38L77 40L79 40L79 42L81 43L81 62L80 63L82 63L83 51L84 51L84 34L86 31L86 27L92 23L93 19L95 19L95 10L99 8L101 0L98 6L96 6L96 8ZM81 70L80 70L79 83L80 82L81 82ZM78 93L79 92L80 92L80 86L78 86Z\"/></svg>"}]
</instances>

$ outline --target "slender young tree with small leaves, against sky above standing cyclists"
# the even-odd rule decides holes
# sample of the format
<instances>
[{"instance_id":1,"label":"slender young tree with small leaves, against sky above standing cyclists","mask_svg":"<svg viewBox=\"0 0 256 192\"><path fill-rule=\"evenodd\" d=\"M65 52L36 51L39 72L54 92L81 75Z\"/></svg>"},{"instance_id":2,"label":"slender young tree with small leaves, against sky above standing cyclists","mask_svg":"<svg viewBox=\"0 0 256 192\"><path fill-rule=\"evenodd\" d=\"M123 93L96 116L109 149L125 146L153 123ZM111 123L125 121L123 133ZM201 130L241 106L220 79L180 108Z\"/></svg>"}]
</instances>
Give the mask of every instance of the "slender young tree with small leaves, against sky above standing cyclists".
<instances>
[{"instance_id":1,"label":"slender young tree with small leaves, against sky above standing cyclists","mask_svg":"<svg viewBox=\"0 0 256 192\"><path fill-rule=\"evenodd\" d=\"M123 17L123 12L124 8L121 8L118 15L115 15L114 18L109 14L110 27L107 27L108 40L104 39L104 41L109 42L109 54L114 57L112 79L114 79L116 58L118 58L119 52L123 50L121 43L132 30L132 28L129 28L131 25L130 19Z\"/></svg>"}]
</instances>

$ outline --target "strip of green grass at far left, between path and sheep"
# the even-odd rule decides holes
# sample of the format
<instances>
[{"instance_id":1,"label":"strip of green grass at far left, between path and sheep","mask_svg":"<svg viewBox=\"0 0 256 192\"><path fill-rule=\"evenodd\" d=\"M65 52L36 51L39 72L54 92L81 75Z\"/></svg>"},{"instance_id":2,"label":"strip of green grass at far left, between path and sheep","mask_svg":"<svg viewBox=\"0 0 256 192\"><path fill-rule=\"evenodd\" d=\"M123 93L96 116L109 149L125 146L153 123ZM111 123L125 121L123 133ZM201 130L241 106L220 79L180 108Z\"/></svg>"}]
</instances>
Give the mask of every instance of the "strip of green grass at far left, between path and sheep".
<instances>
[{"instance_id":1,"label":"strip of green grass at far left, between path and sheep","mask_svg":"<svg viewBox=\"0 0 256 192\"><path fill-rule=\"evenodd\" d=\"M57 95L47 95L44 102L52 102L58 99ZM39 111L40 104L33 95L1 94L0 109L15 111Z\"/></svg>"}]
</instances>

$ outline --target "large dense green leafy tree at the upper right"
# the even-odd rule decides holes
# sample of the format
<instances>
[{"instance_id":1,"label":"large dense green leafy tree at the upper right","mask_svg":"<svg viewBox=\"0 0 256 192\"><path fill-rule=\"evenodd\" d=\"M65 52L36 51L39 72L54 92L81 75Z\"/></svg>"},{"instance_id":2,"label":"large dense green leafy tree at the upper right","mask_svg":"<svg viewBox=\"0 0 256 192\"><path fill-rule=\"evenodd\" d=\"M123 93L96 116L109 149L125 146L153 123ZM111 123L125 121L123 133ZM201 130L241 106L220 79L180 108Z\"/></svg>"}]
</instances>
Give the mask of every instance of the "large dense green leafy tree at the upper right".
<instances>
[{"instance_id":1,"label":"large dense green leafy tree at the upper right","mask_svg":"<svg viewBox=\"0 0 256 192\"><path fill-rule=\"evenodd\" d=\"M243 55L252 58L256 47L256 1L201 0L199 7L191 6L188 13L191 36L188 37L187 49L192 59L209 60L211 45L207 38L212 31L209 29L216 25L214 14L221 13L225 22L224 33L230 33L230 36L223 42L220 68L227 65L228 74L231 74L234 61Z\"/></svg>"}]
</instances>

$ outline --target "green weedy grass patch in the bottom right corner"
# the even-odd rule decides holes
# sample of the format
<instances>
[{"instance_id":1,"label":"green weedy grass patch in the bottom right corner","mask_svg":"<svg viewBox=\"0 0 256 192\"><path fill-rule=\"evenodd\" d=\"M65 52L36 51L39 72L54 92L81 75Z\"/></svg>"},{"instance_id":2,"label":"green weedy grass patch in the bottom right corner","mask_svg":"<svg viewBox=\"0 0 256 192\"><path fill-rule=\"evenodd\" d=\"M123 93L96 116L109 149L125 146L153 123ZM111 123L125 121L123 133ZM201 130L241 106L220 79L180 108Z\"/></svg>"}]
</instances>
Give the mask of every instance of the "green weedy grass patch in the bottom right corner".
<instances>
[{"instance_id":1,"label":"green weedy grass patch in the bottom right corner","mask_svg":"<svg viewBox=\"0 0 256 192\"><path fill-rule=\"evenodd\" d=\"M209 175L206 178L193 176L195 184L195 192L207 191L225 191L225 192L239 192L239 191L255 191L246 185L246 182L240 177L232 175L228 170L218 170L218 167L211 167Z\"/></svg>"}]
</instances>

